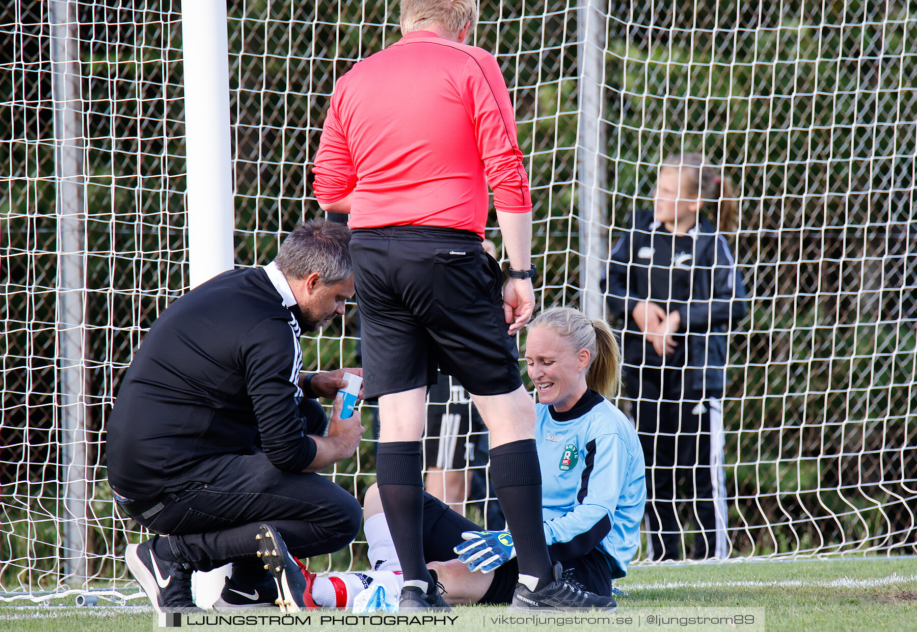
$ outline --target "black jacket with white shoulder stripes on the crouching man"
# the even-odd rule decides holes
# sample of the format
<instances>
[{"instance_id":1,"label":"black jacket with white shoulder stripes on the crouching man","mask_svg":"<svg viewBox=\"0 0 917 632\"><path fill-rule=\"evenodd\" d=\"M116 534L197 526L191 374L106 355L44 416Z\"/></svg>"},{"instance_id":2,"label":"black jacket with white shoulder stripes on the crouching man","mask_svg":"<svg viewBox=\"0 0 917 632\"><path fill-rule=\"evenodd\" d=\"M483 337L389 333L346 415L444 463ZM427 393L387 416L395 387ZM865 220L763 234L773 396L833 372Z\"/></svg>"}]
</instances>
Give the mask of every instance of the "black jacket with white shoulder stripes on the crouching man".
<instances>
[{"instance_id":1,"label":"black jacket with white shoulder stripes on the crouching man","mask_svg":"<svg viewBox=\"0 0 917 632\"><path fill-rule=\"evenodd\" d=\"M108 479L151 499L208 482L202 464L262 449L282 471L315 458L306 433L299 308L264 269L224 272L175 300L134 354L106 425ZM305 324L304 324L305 326ZM313 424L315 422L312 422Z\"/></svg>"}]
</instances>

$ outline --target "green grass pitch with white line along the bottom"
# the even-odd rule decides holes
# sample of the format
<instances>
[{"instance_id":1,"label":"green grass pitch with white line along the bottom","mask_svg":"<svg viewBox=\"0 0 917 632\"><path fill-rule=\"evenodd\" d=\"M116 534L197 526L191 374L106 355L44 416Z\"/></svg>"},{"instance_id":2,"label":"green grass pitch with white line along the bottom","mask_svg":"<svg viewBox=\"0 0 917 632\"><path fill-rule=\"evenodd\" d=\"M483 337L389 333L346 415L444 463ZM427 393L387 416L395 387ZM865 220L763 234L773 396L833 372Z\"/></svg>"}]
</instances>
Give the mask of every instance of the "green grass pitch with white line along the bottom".
<instances>
[{"instance_id":1,"label":"green grass pitch with white line along the bottom","mask_svg":"<svg viewBox=\"0 0 917 632\"><path fill-rule=\"evenodd\" d=\"M917 558L799 560L730 562L724 564L676 564L634 566L617 583L629 592L618 600L613 616L641 615L642 626L570 626L571 629L656 630L767 630L803 632L814 630L917 630ZM72 604L72 598L55 600ZM102 602L103 600L100 600ZM129 603L146 604L134 599ZM0 607L0 630L127 630L159 629L149 606L77 608L59 605L4 605ZM764 626L646 626L647 614L667 614L665 608L729 608L735 613L763 609ZM757 612L761 612L758 610ZM682 610L680 614L684 614ZM321 615L309 613L311 625L304 630L352 630L362 632L380 626L322 624ZM454 626L423 626L452 632L514 630L535 632L547 626L493 624L503 608L457 608ZM716 615L714 610L702 615ZM484 626L484 623L487 623ZM184 627L188 627L188 621ZM210 630L282 629L282 626L205 626ZM419 629L421 626L386 626L385 629Z\"/></svg>"}]
</instances>

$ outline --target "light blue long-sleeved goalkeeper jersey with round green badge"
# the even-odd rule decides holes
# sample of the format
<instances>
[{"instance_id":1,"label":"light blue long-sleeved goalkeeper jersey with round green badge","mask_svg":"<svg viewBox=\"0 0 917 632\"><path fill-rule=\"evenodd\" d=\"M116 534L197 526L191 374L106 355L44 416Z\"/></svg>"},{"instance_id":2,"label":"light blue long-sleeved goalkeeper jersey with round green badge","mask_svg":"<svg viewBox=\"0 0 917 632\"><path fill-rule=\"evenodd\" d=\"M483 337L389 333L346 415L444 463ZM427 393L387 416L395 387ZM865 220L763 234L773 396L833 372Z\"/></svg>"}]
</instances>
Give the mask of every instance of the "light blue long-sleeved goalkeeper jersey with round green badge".
<instances>
[{"instance_id":1,"label":"light blue long-sleeved goalkeeper jersey with round green badge","mask_svg":"<svg viewBox=\"0 0 917 632\"><path fill-rule=\"evenodd\" d=\"M578 548L601 538L597 546L620 569L614 575L624 576L646 504L643 450L630 420L587 391L565 413L536 405L535 438L547 544Z\"/></svg>"}]
</instances>

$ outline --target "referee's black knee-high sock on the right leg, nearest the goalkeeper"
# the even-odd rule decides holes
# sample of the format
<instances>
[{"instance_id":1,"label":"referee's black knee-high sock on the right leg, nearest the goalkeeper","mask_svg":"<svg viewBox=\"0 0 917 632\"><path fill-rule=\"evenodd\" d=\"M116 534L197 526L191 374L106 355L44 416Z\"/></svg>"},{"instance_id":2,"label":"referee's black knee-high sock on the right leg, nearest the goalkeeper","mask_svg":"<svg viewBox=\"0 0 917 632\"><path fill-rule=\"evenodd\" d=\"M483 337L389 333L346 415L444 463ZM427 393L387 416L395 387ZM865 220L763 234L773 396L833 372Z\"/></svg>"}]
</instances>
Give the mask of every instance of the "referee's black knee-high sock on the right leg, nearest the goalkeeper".
<instances>
[{"instance_id":1,"label":"referee's black knee-high sock on the right leg, nearest the goalkeeper","mask_svg":"<svg viewBox=\"0 0 917 632\"><path fill-rule=\"evenodd\" d=\"M491 449L491 481L513 534L519 574L538 578L536 590L554 581L541 514L541 466L535 439Z\"/></svg>"}]
</instances>

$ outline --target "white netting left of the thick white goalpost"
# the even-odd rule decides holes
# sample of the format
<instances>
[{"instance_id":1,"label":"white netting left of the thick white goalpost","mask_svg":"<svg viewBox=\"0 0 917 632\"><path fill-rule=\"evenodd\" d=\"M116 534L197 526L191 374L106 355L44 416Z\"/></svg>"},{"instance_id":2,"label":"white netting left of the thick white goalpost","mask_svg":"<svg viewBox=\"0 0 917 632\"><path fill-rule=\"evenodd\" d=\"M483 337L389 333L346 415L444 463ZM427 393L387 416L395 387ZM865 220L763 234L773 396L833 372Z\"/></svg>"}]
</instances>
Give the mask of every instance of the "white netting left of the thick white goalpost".
<instances>
[{"instance_id":1,"label":"white netting left of the thick white goalpost","mask_svg":"<svg viewBox=\"0 0 917 632\"><path fill-rule=\"evenodd\" d=\"M142 333L188 286L179 13L14 2L0 15L0 583L124 585L134 527L106 483L105 419Z\"/></svg>"}]
</instances>

